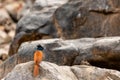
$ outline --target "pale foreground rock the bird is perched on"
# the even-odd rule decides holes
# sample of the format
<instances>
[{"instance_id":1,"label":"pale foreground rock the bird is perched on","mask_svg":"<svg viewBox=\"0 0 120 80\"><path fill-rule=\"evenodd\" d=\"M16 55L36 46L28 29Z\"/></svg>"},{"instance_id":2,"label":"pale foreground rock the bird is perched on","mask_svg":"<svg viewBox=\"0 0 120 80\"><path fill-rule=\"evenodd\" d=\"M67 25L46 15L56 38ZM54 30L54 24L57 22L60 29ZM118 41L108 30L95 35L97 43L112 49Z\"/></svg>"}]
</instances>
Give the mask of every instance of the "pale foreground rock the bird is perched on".
<instances>
[{"instance_id":1,"label":"pale foreground rock the bird is perched on","mask_svg":"<svg viewBox=\"0 0 120 80\"><path fill-rule=\"evenodd\" d=\"M40 64L40 74L35 78L33 62L17 65L4 80L120 80L120 72L93 66L58 66L49 62Z\"/></svg>"}]
</instances>

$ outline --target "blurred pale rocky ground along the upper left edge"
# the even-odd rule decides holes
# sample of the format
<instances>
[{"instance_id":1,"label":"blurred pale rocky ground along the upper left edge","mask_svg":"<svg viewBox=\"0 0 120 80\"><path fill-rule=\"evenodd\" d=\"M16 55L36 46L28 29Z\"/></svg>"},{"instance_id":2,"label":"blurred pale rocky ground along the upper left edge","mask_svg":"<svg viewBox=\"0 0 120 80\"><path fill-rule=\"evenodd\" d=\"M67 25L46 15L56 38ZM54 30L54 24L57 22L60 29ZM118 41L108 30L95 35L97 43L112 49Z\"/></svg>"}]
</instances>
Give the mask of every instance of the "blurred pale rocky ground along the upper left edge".
<instances>
[{"instance_id":1,"label":"blurred pale rocky ground along the upper left edge","mask_svg":"<svg viewBox=\"0 0 120 80\"><path fill-rule=\"evenodd\" d=\"M7 59L16 24L28 12L31 1L0 0L0 63Z\"/></svg>"}]
</instances>

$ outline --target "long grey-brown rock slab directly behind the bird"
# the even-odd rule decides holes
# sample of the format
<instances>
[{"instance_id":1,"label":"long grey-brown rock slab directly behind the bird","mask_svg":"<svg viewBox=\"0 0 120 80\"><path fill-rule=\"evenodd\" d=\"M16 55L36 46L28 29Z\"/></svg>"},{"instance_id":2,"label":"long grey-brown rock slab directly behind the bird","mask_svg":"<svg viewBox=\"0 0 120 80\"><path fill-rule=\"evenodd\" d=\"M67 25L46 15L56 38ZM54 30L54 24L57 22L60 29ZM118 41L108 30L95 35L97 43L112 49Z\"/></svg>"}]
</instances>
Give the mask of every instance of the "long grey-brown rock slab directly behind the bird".
<instances>
[{"instance_id":1,"label":"long grey-brown rock slab directly behind the bird","mask_svg":"<svg viewBox=\"0 0 120 80\"><path fill-rule=\"evenodd\" d=\"M46 39L25 42L19 48L17 54L9 57L4 64L0 65L0 69L5 69L4 74L0 72L0 75L5 76L16 64L33 60L33 54L38 44L45 48L43 51L44 61L58 65L87 64L120 70L119 41L120 37L102 37L73 40Z\"/></svg>"}]
</instances>

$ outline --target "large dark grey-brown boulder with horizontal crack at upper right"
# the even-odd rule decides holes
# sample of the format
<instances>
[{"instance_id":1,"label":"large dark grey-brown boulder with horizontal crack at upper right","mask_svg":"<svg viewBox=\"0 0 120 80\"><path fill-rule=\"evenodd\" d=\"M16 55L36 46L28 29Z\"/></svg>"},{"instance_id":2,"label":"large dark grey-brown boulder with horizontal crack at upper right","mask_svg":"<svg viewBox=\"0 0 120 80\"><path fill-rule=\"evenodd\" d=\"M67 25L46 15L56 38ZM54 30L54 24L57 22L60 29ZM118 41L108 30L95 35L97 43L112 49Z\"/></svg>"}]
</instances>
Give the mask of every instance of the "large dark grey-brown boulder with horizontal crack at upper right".
<instances>
[{"instance_id":1,"label":"large dark grey-brown boulder with horizontal crack at upper right","mask_svg":"<svg viewBox=\"0 0 120 80\"><path fill-rule=\"evenodd\" d=\"M120 36L119 13L119 0L70 0L54 19L65 39Z\"/></svg>"}]
</instances>

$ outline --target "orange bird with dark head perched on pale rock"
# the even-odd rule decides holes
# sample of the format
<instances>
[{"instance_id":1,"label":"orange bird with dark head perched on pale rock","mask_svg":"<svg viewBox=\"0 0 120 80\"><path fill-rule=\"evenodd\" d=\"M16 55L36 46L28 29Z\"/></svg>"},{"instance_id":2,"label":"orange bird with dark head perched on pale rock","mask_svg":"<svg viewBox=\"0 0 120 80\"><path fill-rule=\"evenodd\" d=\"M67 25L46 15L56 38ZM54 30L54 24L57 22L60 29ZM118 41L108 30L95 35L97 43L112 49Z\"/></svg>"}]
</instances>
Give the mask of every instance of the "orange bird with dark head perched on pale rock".
<instances>
[{"instance_id":1,"label":"orange bird with dark head perched on pale rock","mask_svg":"<svg viewBox=\"0 0 120 80\"><path fill-rule=\"evenodd\" d=\"M33 76L36 77L39 74L39 63L43 58L43 47L41 45L37 45L37 49L34 53L34 71Z\"/></svg>"}]
</instances>

